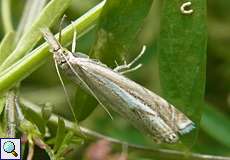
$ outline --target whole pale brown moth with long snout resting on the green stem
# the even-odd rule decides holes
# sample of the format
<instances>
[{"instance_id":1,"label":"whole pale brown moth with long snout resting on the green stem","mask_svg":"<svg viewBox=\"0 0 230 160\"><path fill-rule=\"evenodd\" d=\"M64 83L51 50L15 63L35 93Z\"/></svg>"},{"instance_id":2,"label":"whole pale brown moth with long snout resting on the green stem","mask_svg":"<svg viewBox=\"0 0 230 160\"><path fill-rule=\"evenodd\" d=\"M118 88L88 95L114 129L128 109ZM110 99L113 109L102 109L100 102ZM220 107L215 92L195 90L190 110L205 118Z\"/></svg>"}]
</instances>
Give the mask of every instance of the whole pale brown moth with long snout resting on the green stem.
<instances>
[{"instance_id":1,"label":"whole pale brown moth with long snout resting on the green stem","mask_svg":"<svg viewBox=\"0 0 230 160\"><path fill-rule=\"evenodd\" d=\"M179 135L195 128L185 114L165 99L119 72L129 65L111 69L83 53L63 48L48 28L42 29L42 33L54 60L68 77L92 94L101 105L129 120L156 142L175 143Z\"/></svg>"}]
</instances>

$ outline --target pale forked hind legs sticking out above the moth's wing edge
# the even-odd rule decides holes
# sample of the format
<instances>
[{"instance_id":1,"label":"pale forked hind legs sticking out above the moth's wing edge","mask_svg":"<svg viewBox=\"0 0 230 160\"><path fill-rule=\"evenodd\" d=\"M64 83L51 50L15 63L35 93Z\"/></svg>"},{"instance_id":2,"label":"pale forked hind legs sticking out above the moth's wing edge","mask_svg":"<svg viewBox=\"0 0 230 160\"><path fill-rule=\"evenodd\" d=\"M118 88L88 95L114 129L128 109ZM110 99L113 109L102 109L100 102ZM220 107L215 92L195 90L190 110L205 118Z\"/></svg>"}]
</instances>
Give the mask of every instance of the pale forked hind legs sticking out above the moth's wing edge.
<instances>
[{"instance_id":1,"label":"pale forked hind legs sticking out above the moth's wing edge","mask_svg":"<svg viewBox=\"0 0 230 160\"><path fill-rule=\"evenodd\" d=\"M132 60L129 64L127 64L126 61L124 61L123 65L117 66L113 70L117 71L121 74L124 74L124 73L132 72L132 71L139 69L142 66L142 64L138 64L137 66L135 66L133 68L131 68L131 67L136 61L138 61L141 58L141 56L144 54L145 50L146 50L146 46L143 46L140 54L134 60Z\"/></svg>"}]
</instances>

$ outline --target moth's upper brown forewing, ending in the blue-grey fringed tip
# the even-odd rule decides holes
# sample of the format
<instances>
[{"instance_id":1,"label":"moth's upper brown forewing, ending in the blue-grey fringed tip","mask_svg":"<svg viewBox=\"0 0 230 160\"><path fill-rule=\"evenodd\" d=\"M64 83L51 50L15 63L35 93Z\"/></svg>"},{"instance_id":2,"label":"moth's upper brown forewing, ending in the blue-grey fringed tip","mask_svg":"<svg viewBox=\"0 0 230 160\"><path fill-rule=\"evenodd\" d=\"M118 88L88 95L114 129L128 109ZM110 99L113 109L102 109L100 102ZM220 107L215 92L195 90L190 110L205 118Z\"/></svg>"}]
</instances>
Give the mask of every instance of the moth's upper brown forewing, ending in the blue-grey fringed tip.
<instances>
[{"instance_id":1,"label":"moth's upper brown forewing, ending in the blue-grey fringed tip","mask_svg":"<svg viewBox=\"0 0 230 160\"><path fill-rule=\"evenodd\" d=\"M162 119L164 119L175 132L184 134L194 128L193 122L173 105L169 104L160 96L135 83L134 81L131 81L123 75L113 71L112 69L85 58L72 57L70 58L70 61L73 62L73 65L78 64L84 70L94 72L96 75L100 75L102 77L106 77L108 80L119 84L121 88L125 88L125 90L134 97L141 99L143 103L159 113L159 116L162 117Z\"/></svg>"}]
</instances>

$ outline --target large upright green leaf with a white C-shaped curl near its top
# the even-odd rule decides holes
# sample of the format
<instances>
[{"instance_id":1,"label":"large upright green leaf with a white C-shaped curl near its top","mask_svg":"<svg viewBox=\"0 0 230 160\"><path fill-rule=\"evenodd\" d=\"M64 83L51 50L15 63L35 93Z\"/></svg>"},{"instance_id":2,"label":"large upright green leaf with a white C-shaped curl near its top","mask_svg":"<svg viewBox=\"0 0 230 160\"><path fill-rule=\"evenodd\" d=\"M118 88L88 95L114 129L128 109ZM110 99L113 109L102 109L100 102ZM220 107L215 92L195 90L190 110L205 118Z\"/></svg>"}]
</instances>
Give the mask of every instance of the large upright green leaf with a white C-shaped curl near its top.
<instances>
[{"instance_id":1,"label":"large upright green leaf with a white C-shaped curl near its top","mask_svg":"<svg viewBox=\"0 0 230 160\"><path fill-rule=\"evenodd\" d=\"M206 74L206 0L192 1L194 13L190 15L181 13L181 3L162 3L160 82L163 96L195 121L198 128Z\"/></svg>"}]
</instances>

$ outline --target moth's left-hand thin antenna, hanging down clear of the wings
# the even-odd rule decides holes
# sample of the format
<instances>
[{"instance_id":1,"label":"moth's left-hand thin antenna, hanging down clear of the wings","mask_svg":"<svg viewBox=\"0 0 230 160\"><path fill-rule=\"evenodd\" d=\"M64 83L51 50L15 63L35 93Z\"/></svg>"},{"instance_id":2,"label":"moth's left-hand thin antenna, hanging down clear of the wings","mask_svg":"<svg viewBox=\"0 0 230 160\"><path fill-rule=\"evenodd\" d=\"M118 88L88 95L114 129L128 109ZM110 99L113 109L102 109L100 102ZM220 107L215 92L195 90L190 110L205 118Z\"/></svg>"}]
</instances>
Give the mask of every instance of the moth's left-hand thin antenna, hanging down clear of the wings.
<instances>
[{"instance_id":1,"label":"moth's left-hand thin antenna, hanging down clear of the wings","mask_svg":"<svg viewBox=\"0 0 230 160\"><path fill-rule=\"evenodd\" d=\"M76 123L78 123L77 118L76 118L76 115L75 115L74 110L73 110L73 106L72 106L72 104L71 104L71 102L70 102L70 98L69 98L67 89L66 89L66 87L65 87L64 81L62 80L61 74L60 74L59 69L58 69L57 62L56 62L55 60L54 60L54 64L55 64L55 68L56 68L56 71L57 71L58 78L59 78L59 80L60 80L60 82L61 82L61 85L62 85L62 87L63 87L63 90L64 90L64 93L65 93L65 96L66 96L67 103L68 103L68 105L69 105L69 107L70 107L70 110L71 110L71 112L72 112L72 114L73 114L74 120L76 121Z\"/></svg>"}]
</instances>

